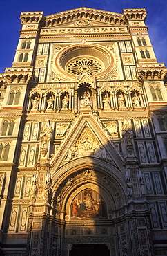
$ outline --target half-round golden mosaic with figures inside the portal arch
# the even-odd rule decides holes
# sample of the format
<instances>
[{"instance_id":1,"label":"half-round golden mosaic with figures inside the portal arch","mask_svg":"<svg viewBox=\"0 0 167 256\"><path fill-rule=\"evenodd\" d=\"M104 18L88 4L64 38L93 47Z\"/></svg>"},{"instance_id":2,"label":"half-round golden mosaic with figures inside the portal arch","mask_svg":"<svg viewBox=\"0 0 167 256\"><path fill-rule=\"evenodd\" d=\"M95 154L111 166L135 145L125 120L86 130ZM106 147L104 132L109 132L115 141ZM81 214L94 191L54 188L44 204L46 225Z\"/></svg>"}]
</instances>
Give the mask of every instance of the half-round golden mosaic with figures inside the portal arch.
<instances>
[{"instance_id":1,"label":"half-round golden mosaic with figures inside the portal arch","mask_svg":"<svg viewBox=\"0 0 167 256\"><path fill-rule=\"evenodd\" d=\"M101 219L107 217L106 203L93 190L83 190L72 201L71 219Z\"/></svg>"}]
</instances>

